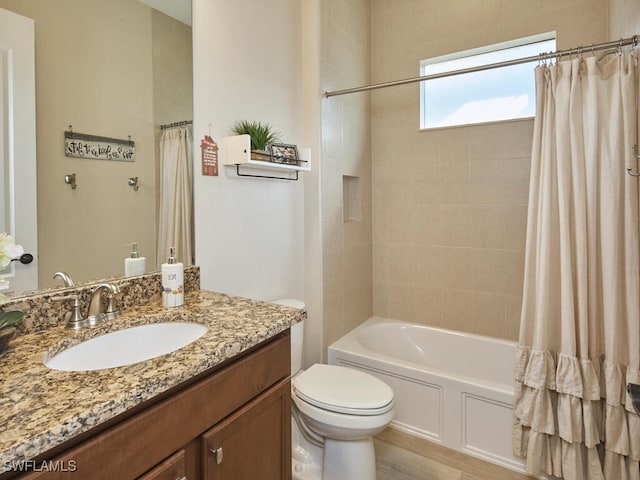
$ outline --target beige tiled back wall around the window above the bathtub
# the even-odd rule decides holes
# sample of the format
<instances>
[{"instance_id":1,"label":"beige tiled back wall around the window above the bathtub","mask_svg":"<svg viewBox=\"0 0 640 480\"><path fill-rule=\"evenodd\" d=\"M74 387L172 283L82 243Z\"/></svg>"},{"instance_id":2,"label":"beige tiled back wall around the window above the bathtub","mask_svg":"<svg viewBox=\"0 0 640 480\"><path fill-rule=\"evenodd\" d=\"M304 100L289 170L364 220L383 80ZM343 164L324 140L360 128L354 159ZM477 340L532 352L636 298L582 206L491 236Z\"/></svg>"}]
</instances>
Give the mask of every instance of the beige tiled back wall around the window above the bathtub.
<instances>
[{"instance_id":1,"label":"beige tiled back wall around the window above the bathtub","mask_svg":"<svg viewBox=\"0 0 640 480\"><path fill-rule=\"evenodd\" d=\"M372 0L372 81L551 30L607 40L599 0ZM499 87L498 87L499 88ZM417 84L372 93L376 315L517 339L532 120L419 131Z\"/></svg>"}]
</instances>

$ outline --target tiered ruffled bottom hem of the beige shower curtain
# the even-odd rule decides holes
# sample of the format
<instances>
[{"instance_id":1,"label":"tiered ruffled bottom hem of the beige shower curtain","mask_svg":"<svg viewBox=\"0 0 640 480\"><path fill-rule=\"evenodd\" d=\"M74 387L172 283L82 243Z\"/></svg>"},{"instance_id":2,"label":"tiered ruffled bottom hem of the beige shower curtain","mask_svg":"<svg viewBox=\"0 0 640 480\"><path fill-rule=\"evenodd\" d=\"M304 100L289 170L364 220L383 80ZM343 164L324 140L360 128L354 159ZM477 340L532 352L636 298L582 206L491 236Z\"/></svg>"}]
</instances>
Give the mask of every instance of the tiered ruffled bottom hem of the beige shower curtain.
<instances>
[{"instance_id":1,"label":"tiered ruffled bottom hem of the beige shower curtain","mask_svg":"<svg viewBox=\"0 0 640 480\"><path fill-rule=\"evenodd\" d=\"M640 420L626 392L640 371L519 346L514 453L527 473L567 480L640 480Z\"/></svg>"}]
</instances>

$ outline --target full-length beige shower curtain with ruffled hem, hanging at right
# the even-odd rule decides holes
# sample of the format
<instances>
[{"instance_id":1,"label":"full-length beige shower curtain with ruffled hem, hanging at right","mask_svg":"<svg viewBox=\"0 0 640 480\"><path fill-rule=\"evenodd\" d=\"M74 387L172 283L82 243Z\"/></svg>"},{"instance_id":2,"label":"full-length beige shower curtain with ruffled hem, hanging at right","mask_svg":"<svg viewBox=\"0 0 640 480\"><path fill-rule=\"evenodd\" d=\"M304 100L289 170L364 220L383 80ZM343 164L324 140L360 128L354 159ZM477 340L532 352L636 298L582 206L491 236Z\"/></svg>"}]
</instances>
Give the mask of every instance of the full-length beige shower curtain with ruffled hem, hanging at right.
<instances>
[{"instance_id":1,"label":"full-length beige shower curtain with ruffled hem, hanging at right","mask_svg":"<svg viewBox=\"0 0 640 480\"><path fill-rule=\"evenodd\" d=\"M536 69L513 431L531 474L640 479L638 82L629 52Z\"/></svg>"}]
</instances>

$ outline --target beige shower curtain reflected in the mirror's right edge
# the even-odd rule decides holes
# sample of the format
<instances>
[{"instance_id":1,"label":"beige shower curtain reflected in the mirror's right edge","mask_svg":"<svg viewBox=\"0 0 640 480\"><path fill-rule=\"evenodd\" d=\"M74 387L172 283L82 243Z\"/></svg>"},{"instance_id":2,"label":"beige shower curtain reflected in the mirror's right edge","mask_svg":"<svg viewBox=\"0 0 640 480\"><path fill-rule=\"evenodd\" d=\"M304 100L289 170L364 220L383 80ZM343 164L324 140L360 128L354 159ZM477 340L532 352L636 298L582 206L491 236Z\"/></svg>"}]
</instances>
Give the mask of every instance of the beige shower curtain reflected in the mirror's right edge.
<instances>
[{"instance_id":1,"label":"beige shower curtain reflected in the mirror's right edge","mask_svg":"<svg viewBox=\"0 0 640 480\"><path fill-rule=\"evenodd\" d=\"M191 132L170 128L160 137L160 218L157 264L167 261L169 248L185 266L193 263L193 174Z\"/></svg>"}]
</instances>

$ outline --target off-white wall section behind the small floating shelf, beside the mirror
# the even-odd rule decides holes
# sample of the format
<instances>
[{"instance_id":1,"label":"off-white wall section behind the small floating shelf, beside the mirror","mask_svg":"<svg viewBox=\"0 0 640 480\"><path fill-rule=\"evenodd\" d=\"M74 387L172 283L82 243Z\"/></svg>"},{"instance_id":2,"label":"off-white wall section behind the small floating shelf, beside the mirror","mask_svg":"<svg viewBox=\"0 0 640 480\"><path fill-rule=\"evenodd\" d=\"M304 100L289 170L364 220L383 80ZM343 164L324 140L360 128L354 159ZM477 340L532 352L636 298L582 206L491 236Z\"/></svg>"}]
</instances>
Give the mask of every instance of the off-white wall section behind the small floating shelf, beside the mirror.
<instances>
[{"instance_id":1,"label":"off-white wall section behind the small floating shelf, beside the mirror","mask_svg":"<svg viewBox=\"0 0 640 480\"><path fill-rule=\"evenodd\" d=\"M234 166L222 165L223 149L217 177L203 176L197 167L199 140L210 132L222 143L238 120L268 122L284 143L306 146L300 3L193 2L195 233L202 288L304 300L305 174L296 182L238 177Z\"/></svg>"}]
</instances>

